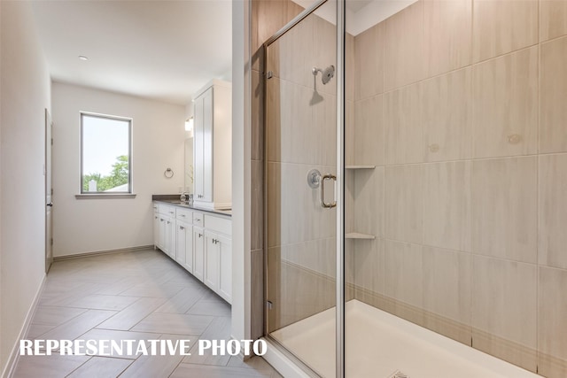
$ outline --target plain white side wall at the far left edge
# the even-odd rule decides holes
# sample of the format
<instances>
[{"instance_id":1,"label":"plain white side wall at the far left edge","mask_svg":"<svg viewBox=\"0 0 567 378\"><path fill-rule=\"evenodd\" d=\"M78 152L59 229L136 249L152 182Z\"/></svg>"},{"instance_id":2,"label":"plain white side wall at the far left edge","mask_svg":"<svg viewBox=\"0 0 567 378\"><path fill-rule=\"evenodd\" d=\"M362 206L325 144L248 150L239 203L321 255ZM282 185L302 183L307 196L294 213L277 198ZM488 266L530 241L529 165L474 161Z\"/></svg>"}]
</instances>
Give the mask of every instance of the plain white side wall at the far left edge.
<instances>
[{"instance_id":1,"label":"plain white side wall at the far left edge","mask_svg":"<svg viewBox=\"0 0 567 378\"><path fill-rule=\"evenodd\" d=\"M0 12L0 371L45 276L45 108L50 76L29 3Z\"/></svg>"}]
</instances>

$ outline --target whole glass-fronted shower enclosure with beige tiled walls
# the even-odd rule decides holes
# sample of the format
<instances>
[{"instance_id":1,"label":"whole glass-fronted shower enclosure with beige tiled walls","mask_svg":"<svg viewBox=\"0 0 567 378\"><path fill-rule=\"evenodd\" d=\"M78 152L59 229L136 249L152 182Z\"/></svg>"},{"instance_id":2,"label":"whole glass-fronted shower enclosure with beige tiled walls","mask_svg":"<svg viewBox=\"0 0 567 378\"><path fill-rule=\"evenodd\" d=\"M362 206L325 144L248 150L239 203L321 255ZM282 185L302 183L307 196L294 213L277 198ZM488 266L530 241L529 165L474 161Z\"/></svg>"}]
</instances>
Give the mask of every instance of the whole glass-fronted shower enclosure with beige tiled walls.
<instances>
[{"instance_id":1,"label":"whole glass-fronted shower enclosure with beige tiled walls","mask_svg":"<svg viewBox=\"0 0 567 378\"><path fill-rule=\"evenodd\" d=\"M302 5L263 47L270 348L306 376L567 375L567 2Z\"/></svg>"}]
</instances>

